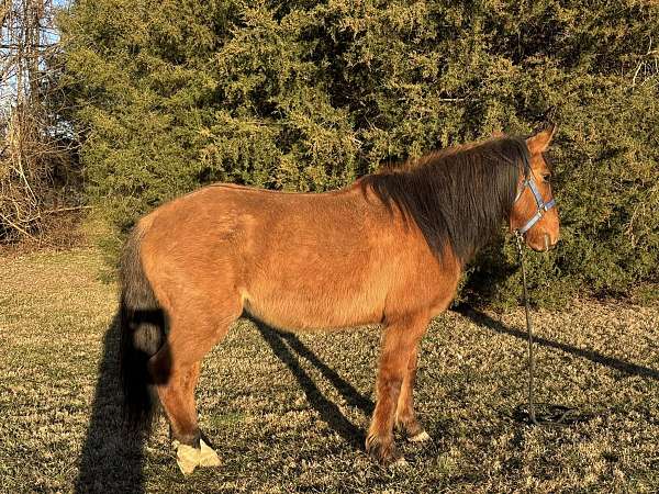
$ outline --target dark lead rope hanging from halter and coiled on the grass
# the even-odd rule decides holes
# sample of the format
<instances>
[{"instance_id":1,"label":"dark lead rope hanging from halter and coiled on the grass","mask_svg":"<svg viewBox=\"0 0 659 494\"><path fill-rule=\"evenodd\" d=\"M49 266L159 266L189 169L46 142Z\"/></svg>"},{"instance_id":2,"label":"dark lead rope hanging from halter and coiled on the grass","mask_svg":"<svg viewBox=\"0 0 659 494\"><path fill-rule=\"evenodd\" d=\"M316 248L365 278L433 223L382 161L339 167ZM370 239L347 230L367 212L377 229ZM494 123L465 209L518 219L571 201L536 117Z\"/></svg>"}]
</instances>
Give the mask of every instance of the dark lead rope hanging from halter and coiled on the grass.
<instances>
[{"instance_id":1,"label":"dark lead rope hanging from halter and coiled on the grass","mask_svg":"<svg viewBox=\"0 0 659 494\"><path fill-rule=\"evenodd\" d=\"M533 353L533 330L530 327L530 311L528 310L528 289L526 288L526 269L524 267L524 249L522 248L522 234L515 231L515 239L517 240L517 254L520 255L520 263L522 265L522 285L524 287L524 312L526 314L526 334L528 336L528 422L536 426L555 426L565 427L578 422L585 422L590 417L585 415L574 416L576 408L563 405L551 405L547 403L538 403L540 407L547 412L539 414L536 417L536 403L534 397L534 380L535 380L535 357Z\"/></svg>"}]
</instances>

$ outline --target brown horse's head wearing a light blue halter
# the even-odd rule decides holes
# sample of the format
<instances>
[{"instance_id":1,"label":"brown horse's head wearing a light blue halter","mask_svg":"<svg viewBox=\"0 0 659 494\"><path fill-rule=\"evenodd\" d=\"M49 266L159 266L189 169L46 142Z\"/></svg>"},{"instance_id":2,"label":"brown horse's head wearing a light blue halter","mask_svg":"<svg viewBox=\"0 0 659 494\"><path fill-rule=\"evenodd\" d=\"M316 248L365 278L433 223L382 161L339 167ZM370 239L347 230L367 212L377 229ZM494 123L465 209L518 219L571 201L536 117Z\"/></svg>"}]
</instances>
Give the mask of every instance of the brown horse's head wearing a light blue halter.
<instances>
[{"instance_id":1,"label":"brown horse's head wearing a light blue halter","mask_svg":"<svg viewBox=\"0 0 659 494\"><path fill-rule=\"evenodd\" d=\"M552 126L526 139L529 162L521 173L510 216L511 231L524 235L526 245L538 251L549 250L559 238L558 211L549 184L551 173L543 157L555 131Z\"/></svg>"}]
</instances>

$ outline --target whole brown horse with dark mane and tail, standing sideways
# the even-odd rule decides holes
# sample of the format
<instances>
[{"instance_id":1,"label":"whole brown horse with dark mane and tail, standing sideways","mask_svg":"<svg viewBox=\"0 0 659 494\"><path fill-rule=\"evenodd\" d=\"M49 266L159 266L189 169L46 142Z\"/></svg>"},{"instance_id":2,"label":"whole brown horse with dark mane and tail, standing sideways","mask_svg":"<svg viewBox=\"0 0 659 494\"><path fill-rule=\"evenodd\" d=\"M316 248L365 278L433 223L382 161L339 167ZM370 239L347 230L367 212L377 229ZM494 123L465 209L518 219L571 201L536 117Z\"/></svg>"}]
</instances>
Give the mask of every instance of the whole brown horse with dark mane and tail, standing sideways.
<instances>
[{"instance_id":1,"label":"whole brown horse with dark mane and tail, standing sideways","mask_svg":"<svg viewBox=\"0 0 659 494\"><path fill-rule=\"evenodd\" d=\"M558 242L543 158L552 134L437 151L327 193L211 186L143 217L121 267L129 424L147 430L159 400L183 473L217 464L194 388L201 359L246 312L292 332L380 324L366 449L400 459L394 426L429 439L412 401L418 341L504 218L535 250Z\"/></svg>"}]
</instances>

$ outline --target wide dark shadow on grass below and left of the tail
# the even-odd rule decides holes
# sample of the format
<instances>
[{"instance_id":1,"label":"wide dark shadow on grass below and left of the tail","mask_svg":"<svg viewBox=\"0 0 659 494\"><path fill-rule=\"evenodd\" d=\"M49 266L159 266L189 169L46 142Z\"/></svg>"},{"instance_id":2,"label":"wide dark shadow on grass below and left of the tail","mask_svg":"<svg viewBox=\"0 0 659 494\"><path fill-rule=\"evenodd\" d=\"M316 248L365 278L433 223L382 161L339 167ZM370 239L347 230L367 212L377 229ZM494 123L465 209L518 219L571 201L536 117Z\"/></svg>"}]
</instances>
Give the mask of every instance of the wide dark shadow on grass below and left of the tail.
<instances>
[{"instance_id":1,"label":"wide dark shadow on grass below and left of the tail","mask_svg":"<svg viewBox=\"0 0 659 494\"><path fill-rule=\"evenodd\" d=\"M121 413L119 317L103 338L92 413L79 459L77 493L144 492L144 438L126 437Z\"/></svg>"}]
</instances>

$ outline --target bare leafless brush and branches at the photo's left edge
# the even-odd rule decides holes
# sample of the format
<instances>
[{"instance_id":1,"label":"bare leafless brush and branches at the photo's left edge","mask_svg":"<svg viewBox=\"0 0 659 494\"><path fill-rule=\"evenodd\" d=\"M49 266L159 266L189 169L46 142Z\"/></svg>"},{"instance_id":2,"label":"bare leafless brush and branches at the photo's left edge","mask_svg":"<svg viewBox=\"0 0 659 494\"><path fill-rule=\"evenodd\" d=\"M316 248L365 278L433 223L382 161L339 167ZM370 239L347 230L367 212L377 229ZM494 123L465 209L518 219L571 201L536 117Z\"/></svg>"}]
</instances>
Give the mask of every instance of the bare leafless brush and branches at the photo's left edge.
<instances>
[{"instance_id":1,"label":"bare leafless brush and branches at the photo's left edge","mask_svg":"<svg viewBox=\"0 0 659 494\"><path fill-rule=\"evenodd\" d=\"M70 207L58 194L71 143L57 122L57 32L51 0L0 8L0 242L38 237L44 218Z\"/></svg>"}]
</instances>

